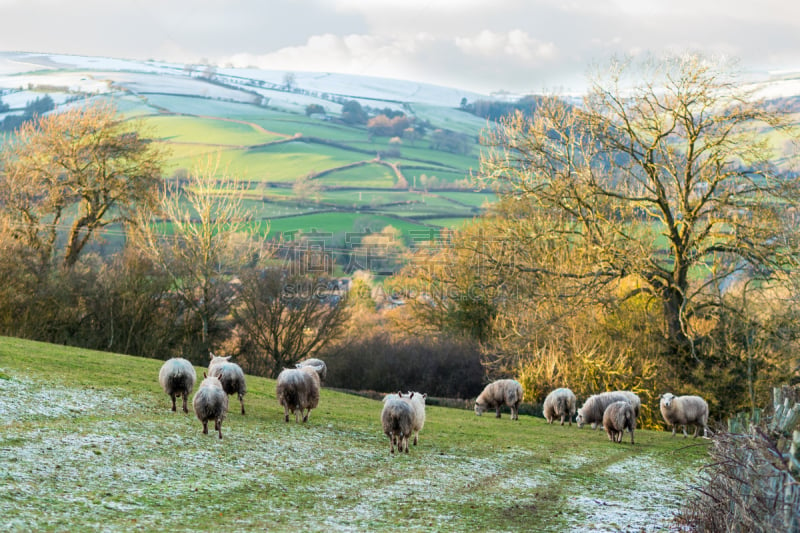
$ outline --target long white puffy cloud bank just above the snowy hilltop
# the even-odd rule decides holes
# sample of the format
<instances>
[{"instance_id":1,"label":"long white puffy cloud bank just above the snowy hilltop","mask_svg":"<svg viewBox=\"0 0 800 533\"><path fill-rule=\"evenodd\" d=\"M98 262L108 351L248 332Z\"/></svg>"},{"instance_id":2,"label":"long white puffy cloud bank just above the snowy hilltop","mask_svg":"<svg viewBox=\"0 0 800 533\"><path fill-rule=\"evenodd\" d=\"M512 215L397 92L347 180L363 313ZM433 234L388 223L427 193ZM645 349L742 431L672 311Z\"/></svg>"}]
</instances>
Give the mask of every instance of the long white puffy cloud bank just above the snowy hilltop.
<instances>
[{"instance_id":1,"label":"long white puffy cloud bank just above the snowy hilltop","mask_svg":"<svg viewBox=\"0 0 800 533\"><path fill-rule=\"evenodd\" d=\"M512 30L461 37L425 32L391 36L326 33L310 37L301 46L261 55L236 54L224 62L269 70L426 80L488 93L533 90L534 82L546 83L543 69L558 59L553 43ZM510 73L516 73L516 77Z\"/></svg>"}]
</instances>

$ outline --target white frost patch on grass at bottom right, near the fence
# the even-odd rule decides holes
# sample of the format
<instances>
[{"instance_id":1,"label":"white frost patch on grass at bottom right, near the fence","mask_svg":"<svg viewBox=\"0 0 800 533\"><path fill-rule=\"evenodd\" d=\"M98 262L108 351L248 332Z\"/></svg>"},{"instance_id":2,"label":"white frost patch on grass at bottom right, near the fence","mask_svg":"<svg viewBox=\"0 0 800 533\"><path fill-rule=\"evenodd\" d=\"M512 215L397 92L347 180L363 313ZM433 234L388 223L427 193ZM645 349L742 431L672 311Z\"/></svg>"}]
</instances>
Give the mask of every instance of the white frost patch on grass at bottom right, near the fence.
<instances>
[{"instance_id":1,"label":"white frost patch on grass at bottom right, near the fence","mask_svg":"<svg viewBox=\"0 0 800 533\"><path fill-rule=\"evenodd\" d=\"M571 498L574 532L675 531L673 523L688 492L688 480L677 479L650 457L632 457L609 466L610 481L591 496Z\"/></svg>"}]
</instances>

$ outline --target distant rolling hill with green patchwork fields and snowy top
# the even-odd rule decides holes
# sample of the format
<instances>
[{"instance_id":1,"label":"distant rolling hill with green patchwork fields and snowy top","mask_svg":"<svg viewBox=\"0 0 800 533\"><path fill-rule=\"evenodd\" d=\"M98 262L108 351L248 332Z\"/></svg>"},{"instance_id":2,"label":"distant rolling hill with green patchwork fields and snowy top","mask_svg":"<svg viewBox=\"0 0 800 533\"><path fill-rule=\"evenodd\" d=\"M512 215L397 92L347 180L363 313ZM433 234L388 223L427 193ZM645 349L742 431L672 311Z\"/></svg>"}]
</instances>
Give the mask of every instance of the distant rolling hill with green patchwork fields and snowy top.
<instances>
[{"instance_id":1,"label":"distant rolling hill with green patchwork fields and snowy top","mask_svg":"<svg viewBox=\"0 0 800 533\"><path fill-rule=\"evenodd\" d=\"M169 147L169 173L191 171L198 160L218 154L226 172L248 182L248 204L270 223L274 237L316 230L332 236L332 247L342 247L348 232L392 225L409 244L409 231L458 225L493 200L469 183L486 123L458 109L463 98L481 95L324 73L292 73L293 85L286 87L286 74L0 53L0 97L11 107L8 114L43 94L62 106L110 99ZM373 115L403 112L424 124L426 133L409 139L370 135L363 124L340 120L347 101ZM307 115L310 105L325 113ZM433 149L437 130L459 136L460 148ZM313 194L293 190L302 179L311 180Z\"/></svg>"}]
</instances>

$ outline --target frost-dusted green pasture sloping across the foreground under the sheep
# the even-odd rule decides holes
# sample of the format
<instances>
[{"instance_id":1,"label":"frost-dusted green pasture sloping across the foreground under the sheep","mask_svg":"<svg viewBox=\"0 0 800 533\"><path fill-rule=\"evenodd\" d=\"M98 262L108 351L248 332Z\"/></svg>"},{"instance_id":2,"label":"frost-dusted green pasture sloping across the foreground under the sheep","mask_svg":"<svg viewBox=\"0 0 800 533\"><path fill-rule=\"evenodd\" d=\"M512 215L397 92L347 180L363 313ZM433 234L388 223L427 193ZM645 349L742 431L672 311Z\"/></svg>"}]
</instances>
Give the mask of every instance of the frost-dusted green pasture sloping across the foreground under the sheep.
<instances>
[{"instance_id":1,"label":"frost-dusted green pasture sloping across the foreground under the sheep","mask_svg":"<svg viewBox=\"0 0 800 533\"><path fill-rule=\"evenodd\" d=\"M667 432L631 446L433 406L391 455L379 401L323 389L287 424L252 376L219 440L170 411L160 365L0 338L4 530L668 531L706 457Z\"/></svg>"}]
</instances>

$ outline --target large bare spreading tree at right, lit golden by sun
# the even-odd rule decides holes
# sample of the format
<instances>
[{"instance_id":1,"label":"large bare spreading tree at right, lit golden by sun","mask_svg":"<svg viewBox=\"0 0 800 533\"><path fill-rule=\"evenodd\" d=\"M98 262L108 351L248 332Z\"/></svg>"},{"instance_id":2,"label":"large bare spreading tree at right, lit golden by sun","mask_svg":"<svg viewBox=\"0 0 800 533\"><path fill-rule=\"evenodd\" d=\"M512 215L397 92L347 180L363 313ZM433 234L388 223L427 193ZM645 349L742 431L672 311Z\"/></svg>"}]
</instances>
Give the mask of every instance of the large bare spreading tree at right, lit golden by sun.
<instances>
[{"instance_id":1,"label":"large bare spreading tree at right, lit golden by sun","mask_svg":"<svg viewBox=\"0 0 800 533\"><path fill-rule=\"evenodd\" d=\"M660 301L671 350L693 356L693 319L724 305L709 287L796 273L800 179L766 134L790 122L731 72L698 56L614 61L581 106L547 98L489 132L481 177L517 215L497 226L512 270L585 293L633 277L622 297ZM559 268L530 252L556 249L571 258Z\"/></svg>"}]
</instances>

